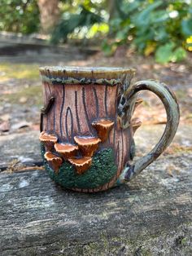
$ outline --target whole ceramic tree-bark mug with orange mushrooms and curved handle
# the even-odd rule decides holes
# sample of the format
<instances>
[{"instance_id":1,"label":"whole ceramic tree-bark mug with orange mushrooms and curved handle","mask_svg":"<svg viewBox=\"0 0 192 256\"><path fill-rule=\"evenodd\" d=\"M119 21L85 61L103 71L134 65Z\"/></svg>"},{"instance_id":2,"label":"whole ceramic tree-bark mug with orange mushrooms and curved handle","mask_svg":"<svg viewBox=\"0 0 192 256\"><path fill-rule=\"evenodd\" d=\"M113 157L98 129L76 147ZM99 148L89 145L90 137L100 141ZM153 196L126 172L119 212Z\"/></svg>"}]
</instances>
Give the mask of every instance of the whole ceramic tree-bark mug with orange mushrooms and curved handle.
<instances>
[{"instance_id":1,"label":"whole ceramic tree-bark mug with orange mushrooms and curved handle","mask_svg":"<svg viewBox=\"0 0 192 256\"><path fill-rule=\"evenodd\" d=\"M40 68L41 154L51 179L63 188L98 192L139 174L171 143L179 123L177 99L168 86L154 80L131 84L133 68ZM167 125L155 148L133 165L133 119L142 102L140 90L161 99Z\"/></svg>"}]
</instances>

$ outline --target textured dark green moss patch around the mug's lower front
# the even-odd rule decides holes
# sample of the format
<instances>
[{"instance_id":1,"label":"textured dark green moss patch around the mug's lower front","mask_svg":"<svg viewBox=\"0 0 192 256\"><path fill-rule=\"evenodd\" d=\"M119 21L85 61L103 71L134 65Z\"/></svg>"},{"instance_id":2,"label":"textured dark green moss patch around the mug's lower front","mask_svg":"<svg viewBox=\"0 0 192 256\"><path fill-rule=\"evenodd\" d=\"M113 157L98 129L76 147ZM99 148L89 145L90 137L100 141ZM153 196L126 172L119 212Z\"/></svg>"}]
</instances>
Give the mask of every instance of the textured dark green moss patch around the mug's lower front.
<instances>
[{"instance_id":1,"label":"textured dark green moss patch around the mug's lower front","mask_svg":"<svg viewBox=\"0 0 192 256\"><path fill-rule=\"evenodd\" d=\"M45 148L41 144L42 157L44 153ZM105 148L95 153L91 167L84 174L77 174L75 168L68 161L63 162L58 174L56 174L44 157L43 159L50 178L63 188L98 188L108 183L117 171L114 152L111 148Z\"/></svg>"}]
</instances>

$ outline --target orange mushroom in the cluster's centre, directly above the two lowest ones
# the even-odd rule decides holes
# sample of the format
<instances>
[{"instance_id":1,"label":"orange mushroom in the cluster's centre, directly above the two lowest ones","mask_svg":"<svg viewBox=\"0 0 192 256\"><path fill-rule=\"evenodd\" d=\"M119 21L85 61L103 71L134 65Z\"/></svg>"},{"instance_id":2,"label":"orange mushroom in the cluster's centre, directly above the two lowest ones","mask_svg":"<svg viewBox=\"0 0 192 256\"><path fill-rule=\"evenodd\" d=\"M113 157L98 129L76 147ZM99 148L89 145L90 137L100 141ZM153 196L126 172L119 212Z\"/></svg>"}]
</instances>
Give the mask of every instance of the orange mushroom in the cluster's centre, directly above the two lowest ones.
<instances>
[{"instance_id":1,"label":"orange mushroom in the cluster's centre, directly above the two lowest ones","mask_svg":"<svg viewBox=\"0 0 192 256\"><path fill-rule=\"evenodd\" d=\"M69 143L55 143L54 147L56 152L59 152L59 154L66 160L74 157L78 150L78 146Z\"/></svg>"}]
</instances>

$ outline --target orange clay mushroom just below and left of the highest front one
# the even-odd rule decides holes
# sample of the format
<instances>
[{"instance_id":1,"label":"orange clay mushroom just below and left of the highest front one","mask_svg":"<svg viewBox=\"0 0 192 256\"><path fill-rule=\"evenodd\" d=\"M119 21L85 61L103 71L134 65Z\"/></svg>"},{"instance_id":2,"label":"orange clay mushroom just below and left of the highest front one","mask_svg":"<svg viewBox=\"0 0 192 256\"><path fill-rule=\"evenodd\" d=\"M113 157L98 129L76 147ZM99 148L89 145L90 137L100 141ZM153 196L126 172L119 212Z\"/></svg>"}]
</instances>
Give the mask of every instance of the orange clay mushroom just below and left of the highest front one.
<instances>
[{"instance_id":1,"label":"orange clay mushroom just below and left of the highest front one","mask_svg":"<svg viewBox=\"0 0 192 256\"><path fill-rule=\"evenodd\" d=\"M101 139L95 137L74 137L75 142L78 144L81 153L85 157L92 157L94 152L98 149L98 143Z\"/></svg>"}]
</instances>

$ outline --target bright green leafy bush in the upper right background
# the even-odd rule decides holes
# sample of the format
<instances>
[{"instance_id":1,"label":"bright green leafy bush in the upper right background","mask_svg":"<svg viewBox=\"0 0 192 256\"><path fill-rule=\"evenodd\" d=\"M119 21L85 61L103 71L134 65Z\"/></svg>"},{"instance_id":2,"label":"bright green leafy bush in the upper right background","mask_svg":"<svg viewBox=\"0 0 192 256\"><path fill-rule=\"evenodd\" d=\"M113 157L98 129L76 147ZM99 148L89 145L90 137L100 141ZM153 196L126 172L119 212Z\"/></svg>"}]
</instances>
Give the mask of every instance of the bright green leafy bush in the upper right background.
<instances>
[{"instance_id":1,"label":"bright green leafy bush in the upper right background","mask_svg":"<svg viewBox=\"0 0 192 256\"><path fill-rule=\"evenodd\" d=\"M186 39L192 35L190 1L134 0L116 5L118 15L110 21L115 39L103 42L107 55L116 46L129 44L143 55L155 53L159 63L185 59Z\"/></svg>"}]
</instances>

